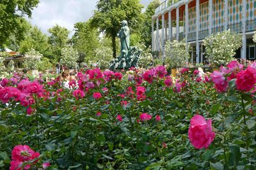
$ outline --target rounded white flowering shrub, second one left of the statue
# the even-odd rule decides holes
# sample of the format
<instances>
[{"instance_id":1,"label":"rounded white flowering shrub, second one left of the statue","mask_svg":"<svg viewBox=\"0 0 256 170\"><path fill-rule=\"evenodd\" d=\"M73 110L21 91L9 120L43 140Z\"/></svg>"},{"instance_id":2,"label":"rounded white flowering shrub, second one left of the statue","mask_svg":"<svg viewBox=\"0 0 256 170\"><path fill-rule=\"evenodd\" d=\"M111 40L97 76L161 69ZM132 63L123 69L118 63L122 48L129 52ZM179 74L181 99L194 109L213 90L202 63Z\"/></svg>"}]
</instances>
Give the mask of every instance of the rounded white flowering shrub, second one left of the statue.
<instances>
[{"instance_id":1,"label":"rounded white flowering shrub, second one left of the statue","mask_svg":"<svg viewBox=\"0 0 256 170\"><path fill-rule=\"evenodd\" d=\"M72 46L67 46L61 49L60 64L62 66L67 66L70 69L75 68L77 67L78 59L78 52Z\"/></svg>"}]
</instances>

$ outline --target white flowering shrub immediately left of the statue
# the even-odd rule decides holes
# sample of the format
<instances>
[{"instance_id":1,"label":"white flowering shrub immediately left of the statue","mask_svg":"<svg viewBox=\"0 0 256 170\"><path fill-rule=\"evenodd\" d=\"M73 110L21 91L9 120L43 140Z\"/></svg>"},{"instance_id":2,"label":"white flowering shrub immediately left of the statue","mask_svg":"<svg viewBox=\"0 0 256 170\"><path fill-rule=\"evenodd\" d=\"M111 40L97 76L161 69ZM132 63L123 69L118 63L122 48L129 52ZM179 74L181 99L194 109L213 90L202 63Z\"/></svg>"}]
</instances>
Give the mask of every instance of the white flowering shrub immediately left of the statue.
<instances>
[{"instance_id":1,"label":"white flowering shrub immediately left of the statue","mask_svg":"<svg viewBox=\"0 0 256 170\"><path fill-rule=\"evenodd\" d=\"M109 46L100 46L96 49L96 55L93 62L99 63L100 69L108 69L110 61L113 59L112 49Z\"/></svg>"}]
</instances>

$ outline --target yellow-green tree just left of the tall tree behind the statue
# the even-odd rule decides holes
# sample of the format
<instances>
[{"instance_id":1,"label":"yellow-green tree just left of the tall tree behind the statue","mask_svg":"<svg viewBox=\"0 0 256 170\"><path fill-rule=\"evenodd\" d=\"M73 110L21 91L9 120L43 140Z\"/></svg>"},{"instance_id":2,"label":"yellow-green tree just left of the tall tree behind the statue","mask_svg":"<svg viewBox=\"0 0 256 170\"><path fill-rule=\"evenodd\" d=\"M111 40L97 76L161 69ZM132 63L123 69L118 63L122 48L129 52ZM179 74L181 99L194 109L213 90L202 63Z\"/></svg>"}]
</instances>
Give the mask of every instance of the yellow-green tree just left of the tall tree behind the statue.
<instances>
[{"instance_id":1,"label":"yellow-green tree just left of the tall tree behind the statue","mask_svg":"<svg viewBox=\"0 0 256 170\"><path fill-rule=\"evenodd\" d=\"M75 33L72 36L74 48L79 53L79 62L90 60L95 57L96 49L99 47L99 32L92 27L91 20L88 22L77 22L74 25Z\"/></svg>"}]
</instances>

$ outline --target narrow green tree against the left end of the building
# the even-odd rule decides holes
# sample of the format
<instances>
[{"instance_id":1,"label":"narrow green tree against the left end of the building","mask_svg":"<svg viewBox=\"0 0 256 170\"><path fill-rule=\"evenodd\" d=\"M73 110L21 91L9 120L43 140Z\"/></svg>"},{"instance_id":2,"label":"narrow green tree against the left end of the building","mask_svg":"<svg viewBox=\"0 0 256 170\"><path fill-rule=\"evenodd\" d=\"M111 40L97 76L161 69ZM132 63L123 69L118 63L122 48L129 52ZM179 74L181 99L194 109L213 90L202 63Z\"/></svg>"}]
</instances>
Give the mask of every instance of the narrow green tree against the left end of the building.
<instances>
[{"instance_id":1,"label":"narrow green tree against the left end of the building","mask_svg":"<svg viewBox=\"0 0 256 170\"><path fill-rule=\"evenodd\" d=\"M141 31L141 38L147 47L152 43L152 16L155 14L155 10L160 4L160 0L152 1L150 4L148 4L145 13L143 13L145 20L143 23L143 29Z\"/></svg>"}]
</instances>

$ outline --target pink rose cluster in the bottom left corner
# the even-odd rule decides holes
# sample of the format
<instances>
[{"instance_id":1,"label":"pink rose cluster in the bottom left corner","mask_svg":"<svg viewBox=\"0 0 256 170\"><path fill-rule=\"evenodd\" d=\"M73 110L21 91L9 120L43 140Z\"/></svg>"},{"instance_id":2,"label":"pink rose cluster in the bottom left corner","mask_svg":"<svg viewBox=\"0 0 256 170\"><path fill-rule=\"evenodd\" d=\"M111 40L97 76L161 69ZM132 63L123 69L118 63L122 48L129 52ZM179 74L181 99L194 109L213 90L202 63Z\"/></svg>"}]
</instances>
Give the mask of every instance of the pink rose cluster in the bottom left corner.
<instances>
[{"instance_id":1,"label":"pink rose cluster in the bottom left corner","mask_svg":"<svg viewBox=\"0 0 256 170\"><path fill-rule=\"evenodd\" d=\"M31 166L38 162L40 157L40 153L31 150L28 145L17 145L12 150L12 161L10 170L22 170L22 169L31 169ZM31 160L35 160L33 163L26 163L31 162ZM26 163L24 168L21 167L22 164ZM47 169L50 166L50 163L42 164L42 169Z\"/></svg>"}]
</instances>

